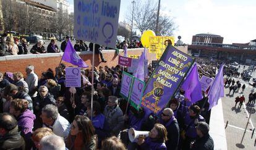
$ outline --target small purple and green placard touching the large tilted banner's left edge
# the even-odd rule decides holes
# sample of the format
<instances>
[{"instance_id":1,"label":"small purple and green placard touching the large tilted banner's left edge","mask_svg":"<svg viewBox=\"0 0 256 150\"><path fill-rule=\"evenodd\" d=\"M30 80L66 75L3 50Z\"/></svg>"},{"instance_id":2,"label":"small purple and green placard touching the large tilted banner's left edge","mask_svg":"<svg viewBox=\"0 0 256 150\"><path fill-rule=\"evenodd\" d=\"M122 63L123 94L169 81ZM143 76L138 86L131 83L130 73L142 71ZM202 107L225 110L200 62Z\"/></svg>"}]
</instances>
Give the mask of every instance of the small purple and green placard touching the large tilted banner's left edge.
<instances>
[{"instance_id":1,"label":"small purple and green placard touching the large tilted banner's left edge","mask_svg":"<svg viewBox=\"0 0 256 150\"><path fill-rule=\"evenodd\" d=\"M132 84L132 92L130 93L130 105L139 111L140 103L142 102L143 91L145 89L145 82L134 77L134 84Z\"/></svg>"}]
</instances>

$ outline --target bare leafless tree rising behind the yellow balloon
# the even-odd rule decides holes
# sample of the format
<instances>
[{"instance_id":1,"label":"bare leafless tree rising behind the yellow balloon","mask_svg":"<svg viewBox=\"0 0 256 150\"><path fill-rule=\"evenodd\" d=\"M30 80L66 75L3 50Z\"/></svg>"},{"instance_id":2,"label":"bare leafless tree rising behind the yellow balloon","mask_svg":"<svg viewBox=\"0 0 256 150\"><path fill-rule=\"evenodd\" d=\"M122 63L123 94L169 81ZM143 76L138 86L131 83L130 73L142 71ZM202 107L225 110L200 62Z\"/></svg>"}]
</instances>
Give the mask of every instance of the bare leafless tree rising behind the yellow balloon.
<instances>
[{"instance_id":1,"label":"bare leafless tree rising behind the yellow balloon","mask_svg":"<svg viewBox=\"0 0 256 150\"><path fill-rule=\"evenodd\" d=\"M156 28L156 16L157 16L157 4L151 0L145 2L136 0L134 5L134 26L140 33L145 30L153 30ZM161 10L160 10L161 12ZM132 4L130 4L127 10L126 19L132 22ZM158 23L158 33L163 36L171 36L175 30L173 18L168 15L160 13Z\"/></svg>"}]
</instances>

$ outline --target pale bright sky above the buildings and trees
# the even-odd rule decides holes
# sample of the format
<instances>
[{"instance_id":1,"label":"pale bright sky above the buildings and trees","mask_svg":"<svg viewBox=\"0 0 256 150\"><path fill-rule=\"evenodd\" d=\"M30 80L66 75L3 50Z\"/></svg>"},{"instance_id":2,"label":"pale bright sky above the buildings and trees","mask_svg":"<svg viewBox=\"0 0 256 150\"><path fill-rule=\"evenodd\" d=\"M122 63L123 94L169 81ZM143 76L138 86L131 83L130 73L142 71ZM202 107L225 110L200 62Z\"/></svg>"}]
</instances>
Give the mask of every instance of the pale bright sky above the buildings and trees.
<instances>
[{"instance_id":1,"label":"pale bright sky above the buildings and trees","mask_svg":"<svg viewBox=\"0 0 256 150\"><path fill-rule=\"evenodd\" d=\"M68 1L70 11L74 11L74 0ZM119 22L125 20L131 6L132 0L121 0ZM224 38L224 44L256 39L255 0L161 0L160 9L177 26L173 36L176 40L181 36L186 44L191 44L192 36L199 33L218 34Z\"/></svg>"}]
</instances>

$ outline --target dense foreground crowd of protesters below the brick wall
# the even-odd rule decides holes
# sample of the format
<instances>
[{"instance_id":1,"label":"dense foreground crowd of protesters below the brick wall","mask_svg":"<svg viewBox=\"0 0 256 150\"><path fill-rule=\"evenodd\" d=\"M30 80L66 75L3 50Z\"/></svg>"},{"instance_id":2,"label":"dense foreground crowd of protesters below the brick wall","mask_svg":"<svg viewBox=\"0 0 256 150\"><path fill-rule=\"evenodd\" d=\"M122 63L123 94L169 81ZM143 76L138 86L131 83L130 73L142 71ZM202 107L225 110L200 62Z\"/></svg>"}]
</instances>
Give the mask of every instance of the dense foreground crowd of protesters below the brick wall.
<instances>
[{"instance_id":1,"label":"dense foreground crowd of protesters below the brick wall","mask_svg":"<svg viewBox=\"0 0 256 150\"><path fill-rule=\"evenodd\" d=\"M65 86L65 68L0 73L0 149L213 149L207 97L192 104L180 89L160 114L137 111L119 96L121 66L82 69L80 88ZM127 128L150 135L131 143Z\"/></svg>"}]
</instances>

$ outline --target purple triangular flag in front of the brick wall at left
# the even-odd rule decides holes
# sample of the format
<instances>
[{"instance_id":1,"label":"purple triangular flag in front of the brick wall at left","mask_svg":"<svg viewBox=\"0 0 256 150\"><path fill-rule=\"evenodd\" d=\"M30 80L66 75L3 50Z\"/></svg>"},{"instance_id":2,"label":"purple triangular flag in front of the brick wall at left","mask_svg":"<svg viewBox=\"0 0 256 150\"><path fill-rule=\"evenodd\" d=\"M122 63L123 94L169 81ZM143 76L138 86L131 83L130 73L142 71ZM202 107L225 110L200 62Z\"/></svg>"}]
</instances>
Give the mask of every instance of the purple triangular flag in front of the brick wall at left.
<instances>
[{"instance_id":1,"label":"purple triangular flag in front of the brick wall at left","mask_svg":"<svg viewBox=\"0 0 256 150\"><path fill-rule=\"evenodd\" d=\"M70 40L67 41L67 46L62 56L62 60L82 68L88 67L88 65L79 57L79 55L77 55L77 52L75 52Z\"/></svg>"}]
</instances>

